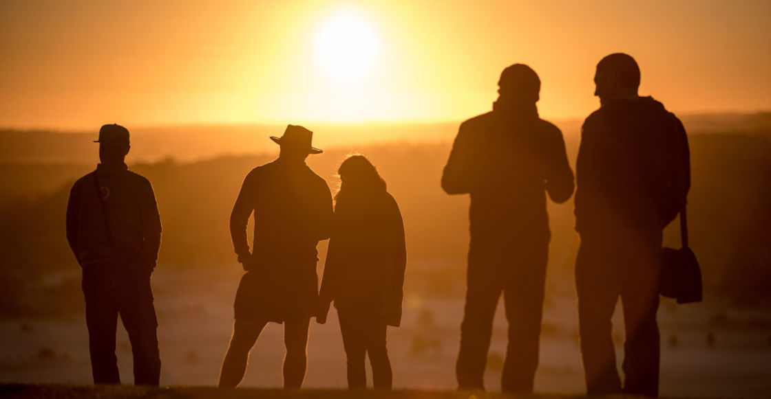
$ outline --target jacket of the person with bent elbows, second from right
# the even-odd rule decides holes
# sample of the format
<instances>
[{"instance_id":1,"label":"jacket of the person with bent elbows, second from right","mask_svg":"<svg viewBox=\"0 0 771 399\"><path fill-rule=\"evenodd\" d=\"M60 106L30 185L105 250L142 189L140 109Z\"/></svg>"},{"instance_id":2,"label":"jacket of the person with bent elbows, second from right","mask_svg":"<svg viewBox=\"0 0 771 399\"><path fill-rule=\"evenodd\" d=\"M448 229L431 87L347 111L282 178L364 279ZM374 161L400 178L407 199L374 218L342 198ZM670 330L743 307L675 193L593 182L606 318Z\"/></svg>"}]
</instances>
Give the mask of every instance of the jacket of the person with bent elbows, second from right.
<instances>
[{"instance_id":1,"label":"jacket of the person with bent elbows, second from right","mask_svg":"<svg viewBox=\"0 0 771 399\"><path fill-rule=\"evenodd\" d=\"M548 239L546 194L564 202L573 194L559 128L538 117L534 104L507 105L464 121L442 175L448 194L471 195L470 230L485 241Z\"/></svg>"}]
</instances>

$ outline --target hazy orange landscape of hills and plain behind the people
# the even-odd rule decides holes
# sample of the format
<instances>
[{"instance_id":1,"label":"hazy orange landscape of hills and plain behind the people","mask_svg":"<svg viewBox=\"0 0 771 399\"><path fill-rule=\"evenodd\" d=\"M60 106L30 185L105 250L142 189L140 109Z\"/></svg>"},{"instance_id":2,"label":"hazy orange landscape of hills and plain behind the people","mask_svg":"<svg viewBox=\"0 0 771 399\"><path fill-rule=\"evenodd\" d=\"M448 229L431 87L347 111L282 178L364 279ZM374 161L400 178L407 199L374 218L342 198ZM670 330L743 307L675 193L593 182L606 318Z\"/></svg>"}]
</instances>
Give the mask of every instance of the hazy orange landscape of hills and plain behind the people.
<instances>
[{"instance_id":1,"label":"hazy orange landscape of hills and plain behind the people","mask_svg":"<svg viewBox=\"0 0 771 399\"><path fill-rule=\"evenodd\" d=\"M689 222L705 301L663 300L662 395L766 397L771 392L771 114L685 115L692 154ZM379 168L405 220L405 318L389 330L397 388L455 387L454 361L465 290L465 196L445 195L439 177L457 123L308 125L322 155L308 165L334 190L337 165L358 151ZM581 121L557 121L574 165ZM163 221L153 277L160 320L161 384L212 385L231 333L242 271L228 216L251 168L271 161L269 135L283 126L129 128L130 168L153 182ZM95 128L96 129L96 128ZM0 131L0 381L91 381L79 267L64 234L69 187L98 161L96 132ZM536 390L584 390L573 264L572 200L549 204L552 241ZM665 231L677 247L678 224ZM319 245L324 266L325 243ZM500 389L506 324L497 315L487 388ZM614 337L621 351L617 312ZM130 346L119 334L124 382ZM281 385L281 328L271 325L251 354L244 386ZM345 387L345 354L334 312L311 323L306 387Z\"/></svg>"}]
</instances>

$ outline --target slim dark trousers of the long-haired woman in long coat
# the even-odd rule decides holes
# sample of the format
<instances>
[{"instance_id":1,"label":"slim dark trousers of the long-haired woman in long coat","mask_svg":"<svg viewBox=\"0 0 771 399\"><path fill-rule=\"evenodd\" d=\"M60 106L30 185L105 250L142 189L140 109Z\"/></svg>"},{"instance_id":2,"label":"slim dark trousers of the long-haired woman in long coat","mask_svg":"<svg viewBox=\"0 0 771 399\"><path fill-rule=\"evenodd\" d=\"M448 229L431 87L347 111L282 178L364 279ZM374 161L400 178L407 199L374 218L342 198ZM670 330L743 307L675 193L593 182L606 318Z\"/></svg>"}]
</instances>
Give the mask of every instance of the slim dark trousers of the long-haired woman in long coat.
<instances>
[{"instance_id":1,"label":"slim dark trousers of the long-haired woman in long coat","mask_svg":"<svg viewBox=\"0 0 771 399\"><path fill-rule=\"evenodd\" d=\"M338 310L342 343L347 361L348 389L365 389L367 374L365 356L372 364L372 385L375 389L389 390L393 374L388 350L385 347L387 325L381 318Z\"/></svg>"}]
</instances>

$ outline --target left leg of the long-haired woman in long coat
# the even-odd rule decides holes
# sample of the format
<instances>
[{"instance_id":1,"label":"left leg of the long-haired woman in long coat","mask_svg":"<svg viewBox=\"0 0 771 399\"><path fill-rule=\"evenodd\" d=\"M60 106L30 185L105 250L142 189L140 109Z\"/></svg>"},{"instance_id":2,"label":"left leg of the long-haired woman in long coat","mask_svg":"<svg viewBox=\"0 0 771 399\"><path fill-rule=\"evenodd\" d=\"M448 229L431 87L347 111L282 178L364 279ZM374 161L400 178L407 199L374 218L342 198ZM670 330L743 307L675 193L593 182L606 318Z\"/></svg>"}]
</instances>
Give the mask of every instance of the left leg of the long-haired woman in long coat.
<instances>
[{"instance_id":1,"label":"left leg of the long-haired woman in long coat","mask_svg":"<svg viewBox=\"0 0 771 399\"><path fill-rule=\"evenodd\" d=\"M342 344L345 347L348 389L365 389L367 387L367 371L364 367L366 341L362 320L355 314L348 314L339 310L338 320L340 321Z\"/></svg>"}]
</instances>

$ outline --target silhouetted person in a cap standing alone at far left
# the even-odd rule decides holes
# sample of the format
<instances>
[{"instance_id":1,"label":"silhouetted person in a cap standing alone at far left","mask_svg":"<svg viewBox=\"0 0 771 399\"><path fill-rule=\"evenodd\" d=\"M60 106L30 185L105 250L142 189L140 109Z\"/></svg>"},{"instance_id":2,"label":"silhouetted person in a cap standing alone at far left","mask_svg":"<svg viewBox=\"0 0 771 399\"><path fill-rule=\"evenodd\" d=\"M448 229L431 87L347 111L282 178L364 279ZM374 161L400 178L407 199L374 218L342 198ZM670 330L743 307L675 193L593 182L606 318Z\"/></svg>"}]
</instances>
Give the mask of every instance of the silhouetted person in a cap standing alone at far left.
<instances>
[{"instance_id":1,"label":"silhouetted person in a cap standing alone at far left","mask_svg":"<svg viewBox=\"0 0 771 399\"><path fill-rule=\"evenodd\" d=\"M150 181L129 171L129 131L99 129L96 171L69 193L67 241L82 267L86 326L95 384L120 384L118 315L129 334L134 383L158 385L157 318L150 275L160 248L160 216Z\"/></svg>"}]
</instances>

